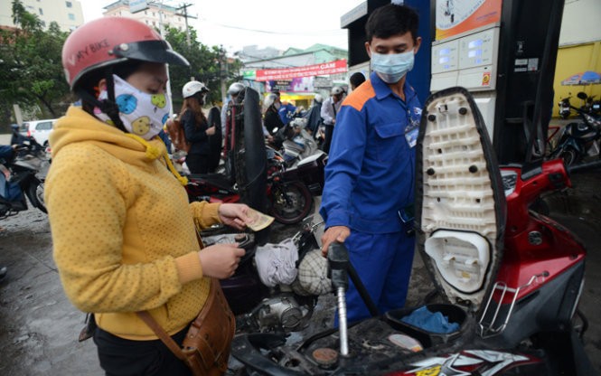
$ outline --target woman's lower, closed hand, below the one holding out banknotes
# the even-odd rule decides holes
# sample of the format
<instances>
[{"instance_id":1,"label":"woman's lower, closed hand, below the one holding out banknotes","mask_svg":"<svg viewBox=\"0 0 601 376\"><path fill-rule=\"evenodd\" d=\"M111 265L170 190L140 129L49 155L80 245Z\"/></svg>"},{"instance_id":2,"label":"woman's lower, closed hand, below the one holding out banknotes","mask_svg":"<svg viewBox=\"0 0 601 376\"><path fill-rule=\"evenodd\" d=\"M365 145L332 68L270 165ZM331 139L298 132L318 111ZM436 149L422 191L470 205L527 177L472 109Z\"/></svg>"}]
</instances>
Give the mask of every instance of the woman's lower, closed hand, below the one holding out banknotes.
<instances>
[{"instance_id":1,"label":"woman's lower, closed hand, below the one holding out banknotes","mask_svg":"<svg viewBox=\"0 0 601 376\"><path fill-rule=\"evenodd\" d=\"M245 253L244 249L238 248L238 243L214 244L201 249L198 257L201 259L202 274L219 279L229 278L233 276Z\"/></svg>"}]
</instances>

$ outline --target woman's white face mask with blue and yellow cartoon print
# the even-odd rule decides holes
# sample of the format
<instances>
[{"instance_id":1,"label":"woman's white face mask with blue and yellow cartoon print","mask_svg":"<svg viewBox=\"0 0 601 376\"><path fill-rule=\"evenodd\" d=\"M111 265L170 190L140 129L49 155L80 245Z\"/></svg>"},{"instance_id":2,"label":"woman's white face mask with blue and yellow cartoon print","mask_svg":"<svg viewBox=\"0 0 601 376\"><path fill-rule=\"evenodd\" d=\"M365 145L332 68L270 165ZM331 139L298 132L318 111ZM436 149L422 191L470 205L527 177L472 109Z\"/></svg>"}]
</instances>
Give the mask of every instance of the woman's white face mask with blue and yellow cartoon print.
<instances>
[{"instance_id":1,"label":"woman's white face mask with blue and yellow cartoon print","mask_svg":"<svg viewBox=\"0 0 601 376\"><path fill-rule=\"evenodd\" d=\"M171 102L166 94L148 94L134 88L126 80L113 75L115 101L119 107L119 118L127 132L149 140L158 135L169 118ZM107 90L100 91L99 100L108 99ZM108 115L94 108L94 115L113 125Z\"/></svg>"}]
</instances>

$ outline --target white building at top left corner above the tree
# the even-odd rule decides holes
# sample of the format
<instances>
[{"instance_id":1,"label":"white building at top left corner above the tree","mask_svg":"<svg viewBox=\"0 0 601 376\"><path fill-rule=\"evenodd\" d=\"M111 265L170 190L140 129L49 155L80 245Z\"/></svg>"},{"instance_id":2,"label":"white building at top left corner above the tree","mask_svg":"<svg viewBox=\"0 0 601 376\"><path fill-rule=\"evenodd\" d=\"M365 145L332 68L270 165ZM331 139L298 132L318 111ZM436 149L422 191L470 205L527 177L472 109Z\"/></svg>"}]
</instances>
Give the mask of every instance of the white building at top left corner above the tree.
<instances>
[{"instance_id":1,"label":"white building at top left corner above the tree","mask_svg":"<svg viewBox=\"0 0 601 376\"><path fill-rule=\"evenodd\" d=\"M59 24L63 32L74 30L83 24L81 4L78 0L21 0L25 10L37 15L44 27ZM0 25L14 27L13 2L0 2Z\"/></svg>"}]
</instances>

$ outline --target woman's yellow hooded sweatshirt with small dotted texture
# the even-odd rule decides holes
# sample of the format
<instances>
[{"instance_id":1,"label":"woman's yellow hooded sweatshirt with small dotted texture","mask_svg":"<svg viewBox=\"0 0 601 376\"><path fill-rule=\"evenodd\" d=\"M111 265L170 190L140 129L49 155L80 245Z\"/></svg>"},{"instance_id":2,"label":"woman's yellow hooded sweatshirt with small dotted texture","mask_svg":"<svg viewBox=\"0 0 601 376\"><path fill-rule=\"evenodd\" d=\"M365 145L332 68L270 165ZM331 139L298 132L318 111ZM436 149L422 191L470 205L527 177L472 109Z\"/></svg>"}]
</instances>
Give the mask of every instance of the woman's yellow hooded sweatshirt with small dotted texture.
<instances>
[{"instance_id":1,"label":"woman's yellow hooded sweatshirt with small dotted texture","mask_svg":"<svg viewBox=\"0 0 601 376\"><path fill-rule=\"evenodd\" d=\"M50 144L45 202L70 301L123 338L156 339L143 310L167 333L181 331L209 292L194 223L219 222L219 204L188 203L158 137L141 142L81 108L57 121Z\"/></svg>"}]
</instances>

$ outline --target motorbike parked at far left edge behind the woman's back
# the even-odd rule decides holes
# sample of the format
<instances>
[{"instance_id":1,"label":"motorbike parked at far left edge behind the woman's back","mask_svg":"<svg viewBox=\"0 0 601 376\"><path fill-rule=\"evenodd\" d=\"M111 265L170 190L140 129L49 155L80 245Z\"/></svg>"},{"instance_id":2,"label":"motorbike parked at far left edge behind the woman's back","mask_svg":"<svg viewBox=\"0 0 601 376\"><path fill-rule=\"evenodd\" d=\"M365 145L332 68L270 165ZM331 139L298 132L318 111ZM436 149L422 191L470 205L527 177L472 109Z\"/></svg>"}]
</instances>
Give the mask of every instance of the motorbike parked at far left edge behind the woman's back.
<instances>
[{"instance_id":1,"label":"motorbike parked at far left edge behind the woman's back","mask_svg":"<svg viewBox=\"0 0 601 376\"><path fill-rule=\"evenodd\" d=\"M25 197L46 212L43 188L49 163L45 148L33 137L16 148L11 160L0 160L0 219L29 209Z\"/></svg>"}]
</instances>

